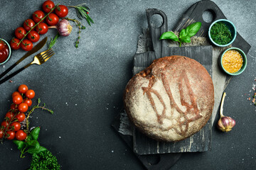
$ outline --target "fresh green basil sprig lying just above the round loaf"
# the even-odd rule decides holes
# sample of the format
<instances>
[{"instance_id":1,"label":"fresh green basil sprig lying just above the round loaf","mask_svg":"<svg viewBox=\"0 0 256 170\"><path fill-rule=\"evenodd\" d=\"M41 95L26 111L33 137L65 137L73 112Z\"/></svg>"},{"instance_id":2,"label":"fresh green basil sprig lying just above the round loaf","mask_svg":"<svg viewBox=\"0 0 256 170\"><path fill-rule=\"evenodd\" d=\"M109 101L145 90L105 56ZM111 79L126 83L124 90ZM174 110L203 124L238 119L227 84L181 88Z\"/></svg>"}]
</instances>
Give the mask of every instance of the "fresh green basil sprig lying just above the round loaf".
<instances>
[{"instance_id":1,"label":"fresh green basil sprig lying just above the round loaf","mask_svg":"<svg viewBox=\"0 0 256 170\"><path fill-rule=\"evenodd\" d=\"M191 42L191 37L198 33L198 30L200 30L201 25L201 22L192 23L187 28L182 29L178 37L171 31L165 32L160 36L159 40L173 40L179 42L179 46L181 47L182 42Z\"/></svg>"}]
</instances>

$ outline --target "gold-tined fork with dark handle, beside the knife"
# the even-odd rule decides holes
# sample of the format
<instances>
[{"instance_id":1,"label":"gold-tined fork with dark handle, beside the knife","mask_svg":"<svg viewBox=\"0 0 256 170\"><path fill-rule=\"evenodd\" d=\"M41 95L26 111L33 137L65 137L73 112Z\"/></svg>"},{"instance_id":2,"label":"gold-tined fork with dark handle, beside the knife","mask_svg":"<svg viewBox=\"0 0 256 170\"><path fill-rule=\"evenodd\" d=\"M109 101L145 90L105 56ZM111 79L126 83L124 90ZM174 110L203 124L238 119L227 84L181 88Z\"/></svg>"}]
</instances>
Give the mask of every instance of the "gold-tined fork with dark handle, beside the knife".
<instances>
[{"instance_id":1,"label":"gold-tined fork with dark handle, beside the knife","mask_svg":"<svg viewBox=\"0 0 256 170\"><path fill-rule=\"evenodd\" d=\"M29 66L31 66L32 64L38 64L41 65L43 63L45 63L47 60L50 59L50 57L52 57L55 53L53 52L52 49L50 50L46 50L43 52L38 53L37 55L35 55L33 62L27 64L26 66L22 67L21 69L18 69L16 72L10 74L8 77L5 77L4 79L1 79L0 84L4 83L4 81L11 79L11 77L14 77L16 74L18 74L19 72L21 72L23 69L28 68Z\"/></svg>"}]
</instances>

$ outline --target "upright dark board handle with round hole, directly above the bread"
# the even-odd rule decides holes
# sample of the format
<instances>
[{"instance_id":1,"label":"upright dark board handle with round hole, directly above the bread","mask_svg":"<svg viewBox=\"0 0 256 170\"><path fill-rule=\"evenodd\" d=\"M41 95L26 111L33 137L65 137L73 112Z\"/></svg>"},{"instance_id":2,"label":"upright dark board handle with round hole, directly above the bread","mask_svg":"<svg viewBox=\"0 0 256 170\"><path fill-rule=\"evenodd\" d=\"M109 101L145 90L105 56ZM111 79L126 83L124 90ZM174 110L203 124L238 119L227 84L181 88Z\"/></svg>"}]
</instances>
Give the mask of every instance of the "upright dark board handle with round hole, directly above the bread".
<instances>
[{"instance_id":1,"label":"upright dark board handle with round hole, directly above the bread","mask_svg":"<svg viewBox=\"0 0 256 170\"><path fill-rule=\"evenodd\" d=\"M152 16L159 14L163 18L163 23L159 28L152 26ZM168 30L167 16L163 11L156 8L146 9L146 18L149 24L149 32L152 40L153 50L156 58L165 57L167 42L166 40L159 40L160 36Z\"/></svg>"}]
</instances>

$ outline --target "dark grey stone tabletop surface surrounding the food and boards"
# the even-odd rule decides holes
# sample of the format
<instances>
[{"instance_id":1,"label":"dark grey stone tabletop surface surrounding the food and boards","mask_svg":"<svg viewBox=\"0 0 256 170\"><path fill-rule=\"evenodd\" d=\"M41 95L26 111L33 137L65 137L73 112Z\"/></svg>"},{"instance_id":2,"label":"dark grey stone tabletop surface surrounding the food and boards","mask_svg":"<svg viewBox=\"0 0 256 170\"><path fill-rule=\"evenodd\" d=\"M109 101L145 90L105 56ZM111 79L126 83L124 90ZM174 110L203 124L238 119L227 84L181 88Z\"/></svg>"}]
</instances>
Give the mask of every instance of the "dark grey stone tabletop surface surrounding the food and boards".
<instances>
[{"instance_id":1,"label":"dark grey stone tabletop surface surrounding the food and boards","mask_svg":"<svg viewBox=\"0 0 256 170\"><path fill-rule=\"evenodd\" d=\"M112 120L122 107L122 93L132 77L132 56L137 40L146 28L146 8L159 8L169 18L169 30L196 1L55 1L55 4L76 5L86 2L95 24L82 31L80 47L75 42L78 29L73 25L69 37L59 38L53 48L55 56L46 64L31 66L12 80L1 84L0 118L11 105L11 93L20 84L36 91L55 113L36 111L31 126L41 126L39 142L56 155L62 169L144 169L127 145L111 128ZM255 81L256 35L255 1L215 0L224 15L237 27L251 45L247 69L233 77L225 90L224 114L237 125L228 133L213 128L212 150L183 154L172 169L255 169L256 108L247 101L252 97ZM0 1L0 37L11 40L14 30L41 9L43 1ZM69 18L75 18L70 9ZM84 21L85 23L85 21ZM45 36L53 37L55 30ZM46 47L43 48L45 50ZM0 72L25 54L13 52L11 59L0 66ZM28 57L16 69L32 61ZM36 103L36 99L33 100ZM215 125L214 125L215 127ZM9 141L0 145L0 169L27 169L31 157L19 158L16 146Z\"/></svg>"}]
</instances>

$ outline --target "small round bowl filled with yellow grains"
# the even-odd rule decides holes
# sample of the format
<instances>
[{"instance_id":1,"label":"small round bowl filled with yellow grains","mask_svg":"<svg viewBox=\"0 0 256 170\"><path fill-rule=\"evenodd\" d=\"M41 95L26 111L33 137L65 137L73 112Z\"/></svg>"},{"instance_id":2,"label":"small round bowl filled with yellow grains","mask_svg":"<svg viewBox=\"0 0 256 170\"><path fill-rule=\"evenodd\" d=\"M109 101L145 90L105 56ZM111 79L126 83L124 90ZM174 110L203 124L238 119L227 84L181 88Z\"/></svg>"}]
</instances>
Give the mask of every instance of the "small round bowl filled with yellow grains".
<instances>
[{"instance_id":1,"label":"small round bowl filled with yellow grains","mask_svg":"<svg viewBox=\"0 0 256 170\"><path fill-rule=\"evenodd\" d=\"M245 52L240 48L231 47L223 52L219 60L223 71L232 76L241 74L247 66Z\"/></svg>"}]
</instances>

